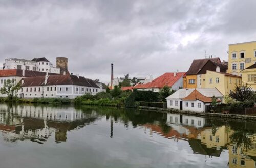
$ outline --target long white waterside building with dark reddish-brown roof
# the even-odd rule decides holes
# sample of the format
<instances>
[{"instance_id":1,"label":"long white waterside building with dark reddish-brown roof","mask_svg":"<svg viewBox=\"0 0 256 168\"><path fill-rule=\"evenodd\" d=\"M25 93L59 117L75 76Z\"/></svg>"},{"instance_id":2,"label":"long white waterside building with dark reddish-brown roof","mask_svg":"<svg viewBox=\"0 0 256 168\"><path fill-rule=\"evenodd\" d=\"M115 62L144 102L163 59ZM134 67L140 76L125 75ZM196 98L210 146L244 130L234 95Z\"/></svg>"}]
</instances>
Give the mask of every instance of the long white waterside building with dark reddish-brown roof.
<instances>
[{"instance_id":1,"label":"long white waterside building with dark reddish-brown roof","mask_svg":"<svg viewBox=\"0 0 256 168\"><path fill-rule=\"evenodd\" d=\"M74 99L86 93L95 95L100 92L96 83L76 75L46 75L23 78L19 97L25 98L69 98Z\"/></svg>"}]
</instances>

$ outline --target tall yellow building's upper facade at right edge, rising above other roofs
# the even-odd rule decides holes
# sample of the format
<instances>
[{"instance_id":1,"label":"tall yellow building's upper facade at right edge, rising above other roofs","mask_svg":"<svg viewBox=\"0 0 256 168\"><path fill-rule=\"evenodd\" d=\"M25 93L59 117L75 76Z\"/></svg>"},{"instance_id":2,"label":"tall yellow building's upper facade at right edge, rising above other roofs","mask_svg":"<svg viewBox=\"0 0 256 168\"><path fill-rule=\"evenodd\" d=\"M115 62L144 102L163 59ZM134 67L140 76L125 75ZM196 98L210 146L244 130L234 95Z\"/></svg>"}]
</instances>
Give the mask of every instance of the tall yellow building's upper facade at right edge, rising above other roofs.
<instances>
[{"instance_id":1,"label":"tall yellow building's upper facade at right edge, rising above other roofs","mask_svg":"<svg viewBox=\"0 0 256 168\"><path fill-rule=\"evenodd\" d=\"M256 41L229 44L228 73L241 76L241 71L256 63Z\"/></svg>"}]
</instances>

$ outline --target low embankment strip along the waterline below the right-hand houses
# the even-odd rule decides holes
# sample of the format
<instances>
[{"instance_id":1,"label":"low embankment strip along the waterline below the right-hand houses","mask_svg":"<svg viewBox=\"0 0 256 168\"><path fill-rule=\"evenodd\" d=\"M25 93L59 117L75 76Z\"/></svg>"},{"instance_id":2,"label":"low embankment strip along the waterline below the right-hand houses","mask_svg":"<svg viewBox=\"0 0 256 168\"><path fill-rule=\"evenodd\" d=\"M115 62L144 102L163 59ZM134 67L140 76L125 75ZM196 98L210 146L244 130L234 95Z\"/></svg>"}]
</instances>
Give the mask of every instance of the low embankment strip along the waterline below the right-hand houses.
<instances>
[{"instance_id":1,"label":"low embankment strip along the waterline below the right-hand houses","mask_svg":"<svg viewBox=\"0 0 256 168\"><path fill-rule=\"evenodd\" d=\"M128 108L125 106L120 106L121 108ZM136 108L136 107L133 107ZM238 114L223 114L223 113L205 113L205 112L195 112L195 111L184 111L178 109L169 109L169 108L156 108L156 107L137 107L138 109L147 109L152 111L157 111L161 113L176 113L176 114L187 114L194 116L205 116L205 117L219 117L219 118L232 118L232 119L243 119L243 120L256 120L256 116L250 115L238 115Z\"/></svg>"}]
</instances>

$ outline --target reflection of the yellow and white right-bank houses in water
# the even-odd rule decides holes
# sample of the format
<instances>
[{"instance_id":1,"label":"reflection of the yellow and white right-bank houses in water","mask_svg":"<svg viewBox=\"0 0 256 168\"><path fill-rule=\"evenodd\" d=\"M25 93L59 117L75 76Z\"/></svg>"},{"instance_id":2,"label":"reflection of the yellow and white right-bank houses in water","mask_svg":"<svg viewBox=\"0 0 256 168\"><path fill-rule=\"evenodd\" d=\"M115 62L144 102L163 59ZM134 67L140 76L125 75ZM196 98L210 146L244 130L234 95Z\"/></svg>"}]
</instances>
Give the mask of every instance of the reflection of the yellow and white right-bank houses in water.
<instances>
[{"instance_id":1,"label":"reflection of the yellow and white right-bank houses in water","mask_svg":"<svg viewBox=\"0 0 256 168\"><path fill-rule=\"evenodd\" d=\"M145 132L149 129L150 136L157 132L176 142L179 139L188 141L193 153L205 155L206 162L207 157L220 157L221 152L226 150L229 153L229 167L256 167L255 135L234 131L230 126L215 126L208 123L206 118L196 116L167 114L166 123L170 126L167 132L159 124L143 125ZM242 143L238 144L239 141Z\"/></svg>"}]
</instances>

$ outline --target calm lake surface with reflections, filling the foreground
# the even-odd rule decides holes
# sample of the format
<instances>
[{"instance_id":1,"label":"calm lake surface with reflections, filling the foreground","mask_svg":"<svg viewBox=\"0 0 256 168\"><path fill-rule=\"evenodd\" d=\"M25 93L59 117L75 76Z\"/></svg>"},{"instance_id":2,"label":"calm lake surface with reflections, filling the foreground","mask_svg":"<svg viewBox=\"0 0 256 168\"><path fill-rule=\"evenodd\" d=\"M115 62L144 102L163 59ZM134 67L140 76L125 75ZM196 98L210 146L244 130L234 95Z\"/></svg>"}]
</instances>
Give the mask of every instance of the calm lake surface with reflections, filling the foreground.
<instances>
[{"instance_id":1,"label":"calm lake surface with reflections, filling the foreground","mask_svg":"<svg viewBox=\"0 0 256 168\"><path fill-rule=\"evenodd\" d=\"M0 167L256 167L256 122L0 104Z\"/></svg>"}]
</instances>

